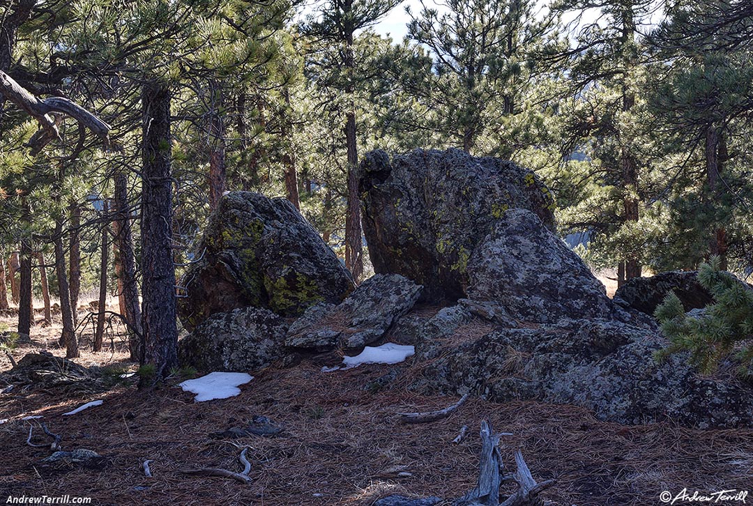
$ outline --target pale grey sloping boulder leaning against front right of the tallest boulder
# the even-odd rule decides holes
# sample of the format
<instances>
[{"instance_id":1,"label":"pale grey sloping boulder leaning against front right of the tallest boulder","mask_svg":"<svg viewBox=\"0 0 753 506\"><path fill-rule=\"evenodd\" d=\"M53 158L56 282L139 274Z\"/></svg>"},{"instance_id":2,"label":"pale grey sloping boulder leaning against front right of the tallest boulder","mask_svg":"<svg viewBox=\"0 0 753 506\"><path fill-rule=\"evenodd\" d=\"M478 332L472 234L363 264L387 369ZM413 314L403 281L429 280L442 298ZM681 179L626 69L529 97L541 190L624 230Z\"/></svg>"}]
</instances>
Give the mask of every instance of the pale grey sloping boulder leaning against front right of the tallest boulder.
<instances>
[{"instance_id":1,"label":"pale grey sloping boulder leaning against front right of the tallest boulder","mask_svg":"<svg viewBox=\"0 0 753 506\"><path fill-rule=\"evenodd\" d=\"M534 213L510 209L468 260L468 298L490 300L515 319L607 317L606 289Z\"/></svg>"}]
</instances>

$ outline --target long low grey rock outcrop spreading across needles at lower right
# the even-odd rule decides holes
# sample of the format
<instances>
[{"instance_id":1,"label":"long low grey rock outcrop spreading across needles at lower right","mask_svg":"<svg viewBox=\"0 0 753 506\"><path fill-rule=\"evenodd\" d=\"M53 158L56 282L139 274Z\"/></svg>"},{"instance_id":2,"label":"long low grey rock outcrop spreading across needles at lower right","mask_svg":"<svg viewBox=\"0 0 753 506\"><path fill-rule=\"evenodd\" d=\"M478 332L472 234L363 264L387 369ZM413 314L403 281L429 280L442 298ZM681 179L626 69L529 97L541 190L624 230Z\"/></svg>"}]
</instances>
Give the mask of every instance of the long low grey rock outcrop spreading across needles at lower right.
<instances>
[{"instance_id":1,"label":"long low grey rock outcrop spreading across needles at lower right","mask_svg":"<svg viewBox=\"0 0 753 506\"><path fill-rule=\"evenodd\" d=\"M750 386L699 376L681 355L658 363L663 346L656 325L606 319L500 329L431 355L416 387L575 404L626 424L668 417L698 428L753 424Z\"/></svg>"}]
</instances>

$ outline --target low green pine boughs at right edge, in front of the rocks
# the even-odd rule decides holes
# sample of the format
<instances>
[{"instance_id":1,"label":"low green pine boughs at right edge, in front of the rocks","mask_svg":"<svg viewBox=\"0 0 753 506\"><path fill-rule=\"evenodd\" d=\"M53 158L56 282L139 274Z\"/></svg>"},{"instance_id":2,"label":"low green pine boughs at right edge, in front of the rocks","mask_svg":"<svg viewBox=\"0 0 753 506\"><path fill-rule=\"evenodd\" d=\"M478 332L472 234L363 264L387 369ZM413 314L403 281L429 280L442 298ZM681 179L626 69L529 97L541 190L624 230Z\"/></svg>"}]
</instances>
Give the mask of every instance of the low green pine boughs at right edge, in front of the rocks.
<instances>
[{"instance_id":1,"label":"low green pine boughs at right edge, in front of the rocks","mask_svg":"<svg viewBox=\"0 0 753 506\"><path fill-rule=\"evenodd\" d=\"M712 373L735 352L740 372L747 375L753 365L753 290L721 270L718 257L701 265L698 282L713 295L715 303L700 315L691 316L676 294L667 295L654 315L671 344L657 358L689 352L691 364L703 373Z\"/></svg>"}]
</instances>

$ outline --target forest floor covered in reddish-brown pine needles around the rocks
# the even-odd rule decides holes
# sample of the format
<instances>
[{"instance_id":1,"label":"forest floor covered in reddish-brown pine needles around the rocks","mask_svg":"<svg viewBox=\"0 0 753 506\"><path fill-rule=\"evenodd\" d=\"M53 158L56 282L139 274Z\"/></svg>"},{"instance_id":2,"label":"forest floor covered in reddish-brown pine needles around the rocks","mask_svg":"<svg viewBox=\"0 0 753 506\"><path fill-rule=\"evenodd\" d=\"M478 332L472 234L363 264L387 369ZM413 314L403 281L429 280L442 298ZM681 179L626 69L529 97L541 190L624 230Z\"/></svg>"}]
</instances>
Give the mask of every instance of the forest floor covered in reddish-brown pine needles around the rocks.
<instances>
[{"instance_id":1,"label":"forest floor covered in reddish-brown pine needles around the rocks","mask_svg":"<svg viewBox=\"0 0 753 506\"><path fill-rule=\"evenodd\" d=\"M15 325L12 318L3 322ZM34 344L20 346L13 355L18 360L39 349L64 355L54 346L59 330L59 323L35 327ZM90 330L84 332L78 363L135 369L127 361L123 337L114 330L114 339L105 340L105 351L96 354L84 351L91 340ZM256 374L236 397L200 403L176 386L178 379L148 392L139 392L135 379L98 394L14 389L0 395L0 419L8 419L0 425L0 499L70 495L93 498L92 504L272 506L365 505L392 493L457 498L475 485L484 419L495 431L513 434L502 437L501 444L508 471L514 470L514 450L520 449L537 480L556 480L544 492L545 504L664 504L659 499L663 491L674 497L684 488L691 495L694 490L753 488L753 430L748 429L700 431L672 422L626 426L599 421L578 407L478 398L447 419L405 425L395 413L436 410L456 401L409 391L407 385L420 374L410 360L398 367L398 379L378 391L370 388L372 382L395 366L322 373L320 365L304 361ZM7 358L0 359L0 372L10 367ZM95 399L104 403L61 416ZM44 418L22 419L38 415ZM255 415L269 417L282 433L209 437L244 427ZM29 426L38 422L62 435L65 450L94 450L105 457L104 465L41 464L50 450L26 445ZM468 437L453 444L462 425L470 428ZM250 484L180 472L197 465L241 471L242 447L249 448ZM145 459L152 461L153 478L144 476Z\"/></svg>"}]
</instances>

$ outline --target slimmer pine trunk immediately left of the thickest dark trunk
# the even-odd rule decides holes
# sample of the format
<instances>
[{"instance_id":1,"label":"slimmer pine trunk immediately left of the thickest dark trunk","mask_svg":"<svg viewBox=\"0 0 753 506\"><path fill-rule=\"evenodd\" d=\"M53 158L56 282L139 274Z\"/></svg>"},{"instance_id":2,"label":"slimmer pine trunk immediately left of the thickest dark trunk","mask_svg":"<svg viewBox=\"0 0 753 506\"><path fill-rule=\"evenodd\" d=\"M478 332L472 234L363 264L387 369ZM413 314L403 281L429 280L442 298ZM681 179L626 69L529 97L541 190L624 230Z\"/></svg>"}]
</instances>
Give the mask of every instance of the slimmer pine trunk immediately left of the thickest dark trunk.
<instances>
[{"instance_id":1,"label":"slimmer pine trunk immediately left of the thickest dark trunk","mask_svg":"<svg viewBox=\"0 0 753 506\"><path fill-rule=\"evenodd\" d=\"M133 255L133 234L131 233L130 209L128 207L127 177L123 172L115 174L115 219L118 233L115 236L120 253L123 276L123 315L130 328L128 330L128 348L131 360L142 359L142 315L139 306L139 285L136 283L136 258Z\"/></svg>"}]
</instances>

